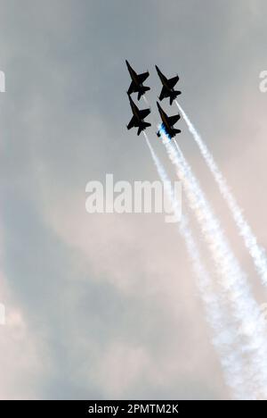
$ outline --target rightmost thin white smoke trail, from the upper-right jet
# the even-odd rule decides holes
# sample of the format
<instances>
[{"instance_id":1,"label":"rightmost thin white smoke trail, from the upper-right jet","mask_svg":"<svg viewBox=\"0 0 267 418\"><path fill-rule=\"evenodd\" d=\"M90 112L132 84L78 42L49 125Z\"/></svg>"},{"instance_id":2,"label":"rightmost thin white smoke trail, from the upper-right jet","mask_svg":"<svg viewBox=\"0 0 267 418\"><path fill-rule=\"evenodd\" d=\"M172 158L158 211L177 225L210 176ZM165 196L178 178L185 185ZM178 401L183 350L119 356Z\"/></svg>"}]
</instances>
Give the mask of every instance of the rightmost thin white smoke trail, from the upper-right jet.
<instances>
[{"instance_id":1,"label":"rightmost thin white smoke trail, from the upper-right jet","mask_svg":"<svg viewBox=\"0 0 267 418\"><path fill-rule=\"evenodd\" d=\"M220 192L223 198L225 199L231 211L232 217L239 229L239 234L244 239L245 246L247 247L249 254L253 258L253 261L255 263L255 269L262 278L263 285L267 286L267 256L263 247L260 247L258 245L257 238L251 230L251 227L248 225L247 220L243 215L242 209L239 208L239 205L237 204L235 197L232 195L231 190L223 177L223 173L220 171L219 167L214 161L214 156L208 150L206 144L204 143L198 131L190 121L187 114L183 111L182 106L176 100L175 103L180 112L182 113L182 117L186 122L188 129L190 130L190 133L197 142L200 153L206 161L206 165L212 172L214 180L219 186Z\"/></svg>"}]
</instances>

